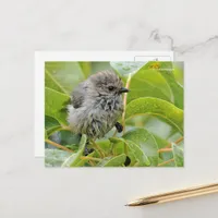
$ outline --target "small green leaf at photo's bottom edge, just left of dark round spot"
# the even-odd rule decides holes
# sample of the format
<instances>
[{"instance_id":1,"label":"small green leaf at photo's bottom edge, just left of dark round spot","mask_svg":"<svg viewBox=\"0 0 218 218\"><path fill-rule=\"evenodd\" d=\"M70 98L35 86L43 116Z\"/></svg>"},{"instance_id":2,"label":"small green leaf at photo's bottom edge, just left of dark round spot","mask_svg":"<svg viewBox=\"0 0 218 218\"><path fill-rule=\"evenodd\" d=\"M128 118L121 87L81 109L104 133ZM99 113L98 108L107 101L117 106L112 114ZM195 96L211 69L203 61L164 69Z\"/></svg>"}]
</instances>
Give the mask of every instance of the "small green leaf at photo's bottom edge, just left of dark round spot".
<instances>
[{"instance_id":1,"label":"small green leaf at photo's bottom edge, just left of dark round spot","mask_svg":"<svg viewBox=\"0 0 218 218\"><path fill-rule=\"evenodd\" d=\"M124 154L116 157L106 157L98 162L97 167L122 167L125 162L125 158L126 156Z\"/></svg>"}]
</instances>

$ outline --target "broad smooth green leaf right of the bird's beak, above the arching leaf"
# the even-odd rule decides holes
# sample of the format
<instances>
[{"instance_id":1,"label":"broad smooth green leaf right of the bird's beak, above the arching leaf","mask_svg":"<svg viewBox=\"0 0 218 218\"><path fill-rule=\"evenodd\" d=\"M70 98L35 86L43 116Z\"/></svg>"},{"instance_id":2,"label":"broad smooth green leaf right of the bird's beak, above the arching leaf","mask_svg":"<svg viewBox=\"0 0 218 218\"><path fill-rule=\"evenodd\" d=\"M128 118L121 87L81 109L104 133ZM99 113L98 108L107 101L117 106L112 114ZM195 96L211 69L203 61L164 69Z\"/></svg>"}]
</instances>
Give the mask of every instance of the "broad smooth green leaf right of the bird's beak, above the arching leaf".
<instances>
[{"instance_id":1,"label":"broad smooth green leaf right of the bird's beak, above the arching leaf","mask_svg":"<svg viewBox=\"0 0 218 218\"><path fill-rule=\"evenodd\" d=\"M141 68L131 78L128 102L138 97L156 97L173 102L171 89L157 70L148 69L148 64Z\"/></svg>"}]
</instances>

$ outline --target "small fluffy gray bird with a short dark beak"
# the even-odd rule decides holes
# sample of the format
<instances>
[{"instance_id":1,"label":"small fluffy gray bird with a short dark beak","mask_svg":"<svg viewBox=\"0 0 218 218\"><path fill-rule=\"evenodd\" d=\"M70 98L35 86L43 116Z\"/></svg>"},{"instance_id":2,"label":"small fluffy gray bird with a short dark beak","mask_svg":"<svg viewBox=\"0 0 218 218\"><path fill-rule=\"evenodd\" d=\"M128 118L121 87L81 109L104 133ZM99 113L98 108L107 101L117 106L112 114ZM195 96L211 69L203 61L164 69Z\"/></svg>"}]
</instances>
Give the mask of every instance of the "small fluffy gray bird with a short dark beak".
<instances>
[{"instance_id":1,"label":"small fluffy gray bird with a short dark beak","mask_svg":"<svg viewBox=\"0 0 218 218\"><path fill-rule=\"evenodd\" d=\"M112 71L101 71L78 84L68 107L68 121L74 133L90 138L104 137L117 123L123 111L123 88L120 77Z\"/></svg>"}]
</instances>

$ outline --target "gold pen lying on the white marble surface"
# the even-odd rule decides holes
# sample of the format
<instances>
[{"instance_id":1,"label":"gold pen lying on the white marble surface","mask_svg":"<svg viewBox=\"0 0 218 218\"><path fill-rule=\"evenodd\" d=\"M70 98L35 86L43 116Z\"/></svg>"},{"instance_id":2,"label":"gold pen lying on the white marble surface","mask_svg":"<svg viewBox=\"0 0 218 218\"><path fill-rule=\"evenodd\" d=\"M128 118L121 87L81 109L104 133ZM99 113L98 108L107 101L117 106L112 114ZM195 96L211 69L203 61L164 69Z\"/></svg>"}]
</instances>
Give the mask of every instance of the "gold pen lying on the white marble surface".
<instances>
[{"instance_id":1,"label":"gold pen lying on the white marble surface","mask_svg":"<svg viewBox=\"0 0 218 218\"><path fill-rule=\"evenodd\" d=\"M178 199L184 199L189 197L206 195L218 192L218 183L202 185L196 187L190 187L173 192L168 192L158 195L152 195L148 197L142 197L136 201L130 202L125 206L143 206L149 204L161 204L166 202L172 202Z\"/></svg>"}]
</instances>

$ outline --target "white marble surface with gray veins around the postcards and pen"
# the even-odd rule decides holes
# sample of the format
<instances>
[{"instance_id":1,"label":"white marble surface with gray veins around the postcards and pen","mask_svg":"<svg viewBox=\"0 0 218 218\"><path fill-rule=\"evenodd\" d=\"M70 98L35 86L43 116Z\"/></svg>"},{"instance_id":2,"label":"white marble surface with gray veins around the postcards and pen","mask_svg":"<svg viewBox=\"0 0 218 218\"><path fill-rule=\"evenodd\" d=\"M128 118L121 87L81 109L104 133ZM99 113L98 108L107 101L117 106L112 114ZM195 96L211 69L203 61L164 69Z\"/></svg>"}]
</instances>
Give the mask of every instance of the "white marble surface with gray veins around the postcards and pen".
<instances>
[{"instance_id":1,"label":"white marble surface with gray veins around the postcards and pen","mask_svg":"<svg viewBox=\"0 0 218 218\"><path fill-rule=\"evenodd\" d=\"M0 217L217 217L218 195L128 208L218 181L217 0L0 1ZM35 50L173 49L185 61L183 169L45 169L34 158Z\"/></svg>"}]
</instances>

